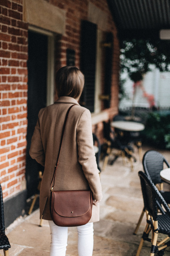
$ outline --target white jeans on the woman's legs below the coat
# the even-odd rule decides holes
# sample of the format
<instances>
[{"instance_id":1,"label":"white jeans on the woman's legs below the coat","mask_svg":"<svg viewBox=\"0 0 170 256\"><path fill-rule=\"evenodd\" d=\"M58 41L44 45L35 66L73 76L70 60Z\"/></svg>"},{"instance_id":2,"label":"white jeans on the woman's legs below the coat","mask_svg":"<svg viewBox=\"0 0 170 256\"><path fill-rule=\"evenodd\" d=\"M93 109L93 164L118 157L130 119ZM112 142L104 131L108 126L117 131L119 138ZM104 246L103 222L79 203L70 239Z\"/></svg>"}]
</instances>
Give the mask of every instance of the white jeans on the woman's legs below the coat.
<instances>
[{"instance_id":1,"label":"white jeans on the woman's legs below the coat","mask_svg":"<svg viewBox=\"0 0 170 256\"><path fill-rule=\"evenodd\" d=\"M59 227L49 220L51 230L50 256L65 256L68 228ZM93 223L77 227L78 256L92 256L93 254Z\"/></svg>"}]
</instances>

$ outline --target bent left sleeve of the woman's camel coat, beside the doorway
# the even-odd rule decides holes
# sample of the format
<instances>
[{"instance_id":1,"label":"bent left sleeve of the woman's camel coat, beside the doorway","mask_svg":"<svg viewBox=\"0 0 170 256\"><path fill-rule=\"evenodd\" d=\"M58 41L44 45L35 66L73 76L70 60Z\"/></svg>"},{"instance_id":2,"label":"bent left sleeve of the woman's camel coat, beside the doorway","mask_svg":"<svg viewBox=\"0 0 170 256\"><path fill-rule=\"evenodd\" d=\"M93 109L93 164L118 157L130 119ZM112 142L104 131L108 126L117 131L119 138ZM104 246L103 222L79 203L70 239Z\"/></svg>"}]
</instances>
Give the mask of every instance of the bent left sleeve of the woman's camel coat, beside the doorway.
<instances>
[{"instance_id":1,"label":"bent left sleeve of the woman's camel coat, beside the doorway","mask_svg":"<svg viewBox=\"0 0 170 256\"><path fill-rule=\"evenodd\" d=\"M40 122L39 119L35 126L33 137L31 139L31 147L29 150L30 156L42 166L45 165L45 153L41 140Z\"/></svg>"}]
</instances>

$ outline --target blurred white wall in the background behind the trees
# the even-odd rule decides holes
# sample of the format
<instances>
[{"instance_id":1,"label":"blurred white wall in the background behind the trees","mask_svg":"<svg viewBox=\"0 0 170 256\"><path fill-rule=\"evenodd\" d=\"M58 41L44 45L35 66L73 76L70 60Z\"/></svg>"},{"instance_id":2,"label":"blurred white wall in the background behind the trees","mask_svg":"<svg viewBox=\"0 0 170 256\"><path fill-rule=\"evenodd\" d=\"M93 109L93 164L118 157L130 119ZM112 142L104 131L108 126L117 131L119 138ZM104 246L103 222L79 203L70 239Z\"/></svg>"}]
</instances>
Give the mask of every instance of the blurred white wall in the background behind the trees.
<instances>
[{"instance_id":1,"label":"blurred white wall in the background behind the trees","mask_svg":"<svg viewBox=\"0 0 170 256\"><path fill-rule=\"evenodd\" d=\"M133 81L129 79L127 73L121 74L121 78L126 79L124 89L127 98L124 98L119 103L119 108L124 109L132 106ZM160 72L159 69L152 66L152 71L145 74L142 84L147 94L154 95L156 107L170 107L170 72ZM149 108L150 106L148 100L143 96L143 90L140 86L136 90L134 105L145 108Z\"/></svg>"}]
</instances>

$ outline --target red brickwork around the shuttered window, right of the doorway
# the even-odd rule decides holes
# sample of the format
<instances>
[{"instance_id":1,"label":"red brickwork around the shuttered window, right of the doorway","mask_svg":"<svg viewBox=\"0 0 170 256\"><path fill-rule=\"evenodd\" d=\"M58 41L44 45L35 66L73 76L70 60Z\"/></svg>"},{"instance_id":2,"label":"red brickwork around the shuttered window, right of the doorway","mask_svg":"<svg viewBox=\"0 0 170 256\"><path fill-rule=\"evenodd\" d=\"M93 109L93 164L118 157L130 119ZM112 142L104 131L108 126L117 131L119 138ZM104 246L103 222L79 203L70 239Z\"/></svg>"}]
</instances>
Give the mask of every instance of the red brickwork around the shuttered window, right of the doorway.
<instances>
[{"instance_id":1,"label":"red brickwork around the shuttered window, right of the doorway","mask_svg":"<svg viewBox=\"0 0 170 256\"><path fill-rule=\"evenodd\" d=\"M88 12L88 3L89 1L73 1L72 0L63 0L63 5L59 4L57 0L51 1L57 7L67 10L66 15L66 31L65 35L59 40L60 44L60 54L57 56L57 65L56 69L58 70L61 66L66 65L66 49L71 48L76 52L75 65L79 67L80 65L80 23L82 19L87 19ZM112 20L111 13L109 11L107 1L105 0L91 0L98 8L102 9L108 15L108 26L107 32L113 33L114 38L114 49L113 49L113 63L112 63L112 84L111 84L111 104L110 108L107 110L109 114L109 119L112 119L114 115L118 113L118 84L119 84L119 56L120 56L120 46L117 38L117 29ZM67 5L68 4L68 5ZM104 74L103 74L104 75ZM101 77L103 80L104 87L104 77ZM102 104L102 102L101 102ZM103 104L102 104L103 110ZM101 143L103 143L103 124L98 123L94 125L93 132L98 136Z\"/></svg>"}]
</instances>

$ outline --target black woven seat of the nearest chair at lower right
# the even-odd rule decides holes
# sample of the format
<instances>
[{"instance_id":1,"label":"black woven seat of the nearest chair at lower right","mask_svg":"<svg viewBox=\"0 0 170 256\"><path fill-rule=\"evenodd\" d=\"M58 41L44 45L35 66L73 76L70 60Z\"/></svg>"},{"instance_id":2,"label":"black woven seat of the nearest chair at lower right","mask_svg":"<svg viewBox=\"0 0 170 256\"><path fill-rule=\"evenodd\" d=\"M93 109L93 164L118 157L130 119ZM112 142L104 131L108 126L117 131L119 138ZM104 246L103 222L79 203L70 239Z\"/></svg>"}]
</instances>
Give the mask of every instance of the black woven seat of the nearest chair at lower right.
<instances>
[{"instance_id":1,"label":"black woven seat of the nearest chair at lower right","mask_svg":"<svg viewBox=\"0 0 170 256\"><path fill-rule=\"evenodd\" d=\"M168 236L170 235L170 217L167 213L158 215L158 232Z\"/></svg>"}]
</instances>

